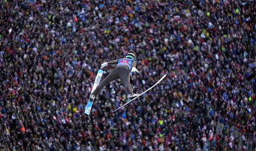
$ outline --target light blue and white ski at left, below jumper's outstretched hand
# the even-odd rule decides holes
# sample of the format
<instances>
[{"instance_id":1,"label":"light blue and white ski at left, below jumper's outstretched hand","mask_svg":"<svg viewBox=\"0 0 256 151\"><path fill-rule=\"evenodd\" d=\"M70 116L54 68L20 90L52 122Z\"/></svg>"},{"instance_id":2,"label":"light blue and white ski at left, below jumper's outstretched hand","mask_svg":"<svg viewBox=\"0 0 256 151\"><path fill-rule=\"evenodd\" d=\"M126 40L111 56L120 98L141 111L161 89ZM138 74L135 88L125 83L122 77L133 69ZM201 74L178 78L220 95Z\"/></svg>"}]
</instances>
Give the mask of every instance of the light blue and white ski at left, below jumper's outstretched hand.
<instances>
[{"instance_id":1,"label":"light blue and white ski at left, below jumper's outstretched hand","mask_svg":"<svg viewBox=\"0 0 256 151\"><path fill-rule=\"evenodd\" d=\"M101 81L101 77L102 77L102 74L103 74L103 70L99 70L97 75L96 75L96 79L94 81L94 84L92 86L92 90L91 90L91 93L96 89L96 87L99 85L99 82ZM90 97L88 99L88 103L85 107L85 110L84 110L84 113L87 114L87 115L90 115L90 112L91 112L91 108L92 108L92 104L93 104L93 100L90 100Z\"/></svg>"}]
</instances>

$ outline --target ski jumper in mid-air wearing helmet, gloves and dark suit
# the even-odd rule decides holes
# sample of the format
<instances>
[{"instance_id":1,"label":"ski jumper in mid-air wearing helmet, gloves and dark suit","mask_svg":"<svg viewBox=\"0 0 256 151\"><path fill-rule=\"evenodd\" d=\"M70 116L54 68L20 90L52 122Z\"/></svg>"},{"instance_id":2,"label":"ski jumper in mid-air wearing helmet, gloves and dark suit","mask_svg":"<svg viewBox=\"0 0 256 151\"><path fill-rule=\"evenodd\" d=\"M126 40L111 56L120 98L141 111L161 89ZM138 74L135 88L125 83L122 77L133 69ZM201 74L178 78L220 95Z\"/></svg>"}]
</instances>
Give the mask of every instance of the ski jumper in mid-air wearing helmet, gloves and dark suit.
<instances>
[{"instance_id":1,"label":"ski jumper in mid-air wearing helmet, gloves and dark suit","mask_svg":"<svg viewBox=\"0 0 256 151\"><path fill-rule=\"evenodd\" d=\"M128 53L126 58L113 60L109 62L104 62L101 64L101 68L107 65L117 65L109 75L96 87L96 89L91 93L90 98L94 100L97 96L99 91L103 89L105 85L114 81L116 79L121 79L122 83L124 84L124 89L127 93L127 98L136 97L138 94L133 93L132 86L130 85L130 72L138 72L136 69L136 59L133 53Z\"/></svg>"}]
</instances>

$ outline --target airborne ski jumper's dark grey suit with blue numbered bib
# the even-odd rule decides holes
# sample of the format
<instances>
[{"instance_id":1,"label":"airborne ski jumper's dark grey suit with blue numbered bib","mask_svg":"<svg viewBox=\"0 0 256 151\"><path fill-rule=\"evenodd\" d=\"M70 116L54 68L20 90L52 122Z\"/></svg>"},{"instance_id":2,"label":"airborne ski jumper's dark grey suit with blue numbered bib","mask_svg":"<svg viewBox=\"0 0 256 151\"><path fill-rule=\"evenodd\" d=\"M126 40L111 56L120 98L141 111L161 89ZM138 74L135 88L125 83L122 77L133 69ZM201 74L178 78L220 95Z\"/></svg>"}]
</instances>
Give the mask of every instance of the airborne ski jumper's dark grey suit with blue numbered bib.
<instances>
[{"instance_id":1,"label":"airborne ski jumper's dark grey suit with blue numbered bib","mask_svg":"<svg viewBox=\"0 0 256 151\"><path fill-rule=\"evenodd\" d=\"M98 96L99 91L101 91L101 89L103 89L105 85L107 85L108 83L116 79L121 79L122 83L124 84L124 89L126 93L132 95L133 89L132 89L132 85L130 85L130 70L132 69L132 67L136 66L136 61L133 59L123 58L123 59L109 61L108 64L109 65L117 64L117 66L96 87L96 89L91 93L91 95L94 95L96 98Z\"/></svg>"}]
</instances>

